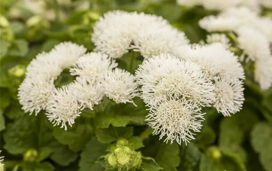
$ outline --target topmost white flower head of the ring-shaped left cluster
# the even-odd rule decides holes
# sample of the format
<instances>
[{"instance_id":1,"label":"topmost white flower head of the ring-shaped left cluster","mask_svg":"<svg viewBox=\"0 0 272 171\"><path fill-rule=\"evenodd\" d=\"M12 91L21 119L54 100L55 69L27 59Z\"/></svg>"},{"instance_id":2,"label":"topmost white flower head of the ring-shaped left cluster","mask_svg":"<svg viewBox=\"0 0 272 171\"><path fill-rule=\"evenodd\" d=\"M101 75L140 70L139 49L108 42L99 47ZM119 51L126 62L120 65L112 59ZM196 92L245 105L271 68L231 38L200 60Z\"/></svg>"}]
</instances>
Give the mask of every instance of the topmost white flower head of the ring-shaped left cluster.
<instances>
[{"instance_id":1,"label":"topmost white flower head of the ring-shaped left cluster","mask_svg":"<svg viewBox=\"0 0 272 171\"><path fill-rule=\"evenodd\" d=\"M50 52L55 55L55 60L61 61L61 68L70 68L86 52L83 45L72 42L62 42L56 45Z\"/></svg>"}]
</instances>

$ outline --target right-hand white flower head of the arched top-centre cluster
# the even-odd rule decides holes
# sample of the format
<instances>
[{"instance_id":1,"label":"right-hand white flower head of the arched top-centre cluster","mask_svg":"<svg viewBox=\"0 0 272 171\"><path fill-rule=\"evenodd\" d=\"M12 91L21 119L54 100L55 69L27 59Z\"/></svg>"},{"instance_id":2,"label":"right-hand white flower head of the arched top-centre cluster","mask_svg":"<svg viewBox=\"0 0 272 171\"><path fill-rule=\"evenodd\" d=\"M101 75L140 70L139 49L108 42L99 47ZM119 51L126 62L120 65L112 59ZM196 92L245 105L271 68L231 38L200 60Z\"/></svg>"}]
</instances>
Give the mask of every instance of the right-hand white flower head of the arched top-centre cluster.
<instances>
[{"instance_id":1,"label":"right-hand white flower head of the arched top-centre cluster","mask_svg":"<svg viewBox=\"0 0 272 171\"><path fill-rule=\"evenodd\" d=\"M158 30L149 29L139 35L139 39L134 41L134 51L138 51L144 58L161 53L173 54L174 49L188 44L184 32L176 28L164 27Z\"/></svg>"}]
</instances>

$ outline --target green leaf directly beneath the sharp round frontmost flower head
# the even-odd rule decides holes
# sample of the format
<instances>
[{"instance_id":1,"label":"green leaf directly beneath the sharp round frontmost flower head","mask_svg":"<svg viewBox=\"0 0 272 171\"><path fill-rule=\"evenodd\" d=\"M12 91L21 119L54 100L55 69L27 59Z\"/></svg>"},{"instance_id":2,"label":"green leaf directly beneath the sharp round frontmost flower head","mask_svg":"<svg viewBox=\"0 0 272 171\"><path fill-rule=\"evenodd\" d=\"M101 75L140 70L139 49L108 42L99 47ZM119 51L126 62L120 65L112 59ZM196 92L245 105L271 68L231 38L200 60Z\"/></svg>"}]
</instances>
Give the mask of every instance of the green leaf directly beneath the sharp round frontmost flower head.
<instances>
[{"instance_id":1,"label":"green leaf directly beneath the sharp round frontmost flower head","mask_svg":"<svg viewBox=\"0 0 272 171\"><path fill-rule=\"evenodd\" d=\"M170 144L162 142L155 160L164 170L176 170L176 167L180 165L179 154L180 145L178 143Z\"/></svg>"}]
</instances>

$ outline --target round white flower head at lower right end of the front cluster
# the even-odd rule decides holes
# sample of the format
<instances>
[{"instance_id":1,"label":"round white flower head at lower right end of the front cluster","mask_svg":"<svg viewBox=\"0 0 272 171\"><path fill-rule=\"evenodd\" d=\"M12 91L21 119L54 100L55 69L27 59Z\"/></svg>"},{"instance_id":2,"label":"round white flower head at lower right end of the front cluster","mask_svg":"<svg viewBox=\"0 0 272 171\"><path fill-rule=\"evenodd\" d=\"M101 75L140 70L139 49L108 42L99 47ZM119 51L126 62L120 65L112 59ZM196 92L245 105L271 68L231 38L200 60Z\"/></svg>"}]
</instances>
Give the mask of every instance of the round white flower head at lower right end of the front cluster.
<instances>
[{"instance_id":1,"label":"round white flower head at lower right end of the front cluster","mask_svg":"<svg viewBox=\"0 0 272 171\"><path fill-rule=\"evenodd\" d=\"M238 79L215 80L214 107L224 116L240 111L244 103L243 82Z\"/></svg>"}]
</instances>

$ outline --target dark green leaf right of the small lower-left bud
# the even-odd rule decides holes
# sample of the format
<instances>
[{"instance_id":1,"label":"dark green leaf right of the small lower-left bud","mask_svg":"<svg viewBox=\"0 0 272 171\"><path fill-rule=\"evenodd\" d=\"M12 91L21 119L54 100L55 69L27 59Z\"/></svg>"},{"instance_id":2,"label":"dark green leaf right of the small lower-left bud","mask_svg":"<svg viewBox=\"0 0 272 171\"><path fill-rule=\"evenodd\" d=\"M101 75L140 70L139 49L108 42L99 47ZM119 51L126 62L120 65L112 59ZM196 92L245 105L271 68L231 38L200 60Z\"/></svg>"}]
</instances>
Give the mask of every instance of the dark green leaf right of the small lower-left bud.
<instances>
[{"instance_id":1,"label":"dark green leaf right of the small lower-left bud","mask_svg":"<svg viewBox=\"0 0 272 171\"><path fill-rule=\"evenodd\" d=\"M78 154L68 148L68 146L61 145L54 150L50 156L54 162L61 166L68 166L71 162L74 162L78 157Z\"/></svg>"}]
</instances>

